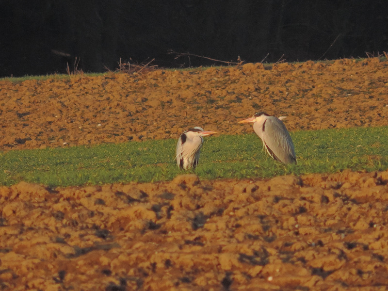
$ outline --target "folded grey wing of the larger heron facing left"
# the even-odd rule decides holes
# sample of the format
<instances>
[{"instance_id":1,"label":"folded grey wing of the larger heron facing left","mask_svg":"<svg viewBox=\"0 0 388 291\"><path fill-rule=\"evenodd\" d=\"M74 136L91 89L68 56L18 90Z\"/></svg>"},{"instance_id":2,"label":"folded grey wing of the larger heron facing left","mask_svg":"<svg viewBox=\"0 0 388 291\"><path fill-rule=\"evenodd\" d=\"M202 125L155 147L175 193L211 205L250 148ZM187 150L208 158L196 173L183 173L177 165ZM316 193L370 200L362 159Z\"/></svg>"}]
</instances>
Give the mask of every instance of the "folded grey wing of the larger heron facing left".
<instances>
[{"instance_id":1,"label":"folded grey wing of the larger heron facing left","mask_svg":"<svg viewBox=\"0 0 388 291\"><path fill-rule=\"evenodd\" d=\"M281 120L270 116L263 124L263 143L268 153L283 163L296 162L290 133Z\"/></svg>"}]
</instances>

